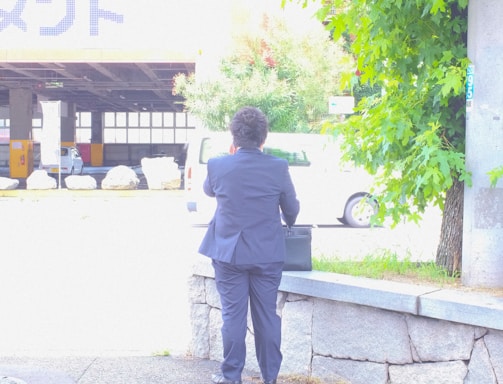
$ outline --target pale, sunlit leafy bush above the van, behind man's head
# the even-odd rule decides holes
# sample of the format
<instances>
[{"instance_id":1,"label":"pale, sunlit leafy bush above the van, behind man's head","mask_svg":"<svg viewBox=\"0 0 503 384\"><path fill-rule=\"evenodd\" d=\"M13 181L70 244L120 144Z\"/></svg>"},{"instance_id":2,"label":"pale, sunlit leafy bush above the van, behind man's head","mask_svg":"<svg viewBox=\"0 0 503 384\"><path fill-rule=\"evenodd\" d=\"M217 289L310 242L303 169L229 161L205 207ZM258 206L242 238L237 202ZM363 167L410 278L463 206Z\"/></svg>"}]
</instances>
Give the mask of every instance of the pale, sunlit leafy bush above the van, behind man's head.
<instances>
[{"instance_id":1,"label":"pale, sunlit leafy bush above the van, behind man's head","mask_svg":"<svg viewBox=\"0 0 503 384\"><path fill-rule=\"evenodd\" d=\"M267 115L272 131L318 131L329 96L340 92L341 68L354 63L321 23L303 31L265 17L259 33L241 37L222 59L218 74L207 80L179 75L174 92L212 130L227 129L239 108L252 105Z\"/></svg>"}]
</instances>

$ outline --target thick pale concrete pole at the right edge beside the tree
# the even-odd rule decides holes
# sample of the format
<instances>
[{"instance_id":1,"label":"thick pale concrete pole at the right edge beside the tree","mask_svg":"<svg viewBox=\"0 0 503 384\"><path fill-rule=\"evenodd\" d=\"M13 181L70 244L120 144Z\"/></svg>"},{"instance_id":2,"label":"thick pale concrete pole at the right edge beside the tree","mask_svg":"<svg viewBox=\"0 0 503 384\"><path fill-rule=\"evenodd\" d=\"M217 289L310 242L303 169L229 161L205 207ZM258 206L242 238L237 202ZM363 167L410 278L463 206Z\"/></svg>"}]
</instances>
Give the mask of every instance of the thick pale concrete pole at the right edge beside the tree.
<instances>
[{"instance_id":1,"label":"thick pale concrete pole at the right edge beside the tree","mask_svg":"<svg viewBox=\"0 0 503 384\"><path fill-rule=\"evenodd\" d=\"M487 172L503 165L503 2L476 0L468 8L466 166L463 284L503 287L503 180ZM472 83L473 81L473 83Z\"/></svg>"}]
</instances>

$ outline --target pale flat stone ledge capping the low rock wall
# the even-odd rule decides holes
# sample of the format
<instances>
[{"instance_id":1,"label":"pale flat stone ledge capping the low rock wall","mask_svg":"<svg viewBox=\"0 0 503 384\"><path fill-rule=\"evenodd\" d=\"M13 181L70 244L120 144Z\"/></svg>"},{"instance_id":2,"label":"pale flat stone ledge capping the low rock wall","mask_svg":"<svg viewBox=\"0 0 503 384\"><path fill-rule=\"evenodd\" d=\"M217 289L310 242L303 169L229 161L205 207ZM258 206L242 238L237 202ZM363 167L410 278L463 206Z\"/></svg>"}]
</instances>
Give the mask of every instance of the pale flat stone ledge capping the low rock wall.
<instances>
[{"instance_id":1,"label":"pale flat stone ledge capping the low rock wall","mask_svg":"<svg viewBox=\"0 0 503 384\"><path fill-rule=\"evenodd\" d=\"M195 275L214 278L201 256ZM503 330L503 298L329 272L283 272L281 291Z\"/></svg>"}]
</instances>

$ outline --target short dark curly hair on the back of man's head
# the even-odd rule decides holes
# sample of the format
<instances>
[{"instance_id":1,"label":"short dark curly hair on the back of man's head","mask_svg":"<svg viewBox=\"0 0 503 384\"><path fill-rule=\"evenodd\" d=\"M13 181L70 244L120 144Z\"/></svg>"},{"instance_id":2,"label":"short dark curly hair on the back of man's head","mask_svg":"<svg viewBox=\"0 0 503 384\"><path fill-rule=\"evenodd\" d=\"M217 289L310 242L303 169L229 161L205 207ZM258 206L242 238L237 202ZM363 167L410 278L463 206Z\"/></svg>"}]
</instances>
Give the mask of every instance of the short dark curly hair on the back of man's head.
<instances>
[{"instance_id":1,"label":"short dark curly hair on the back of man's head","mask_svg":"<svg viewBox=\"0 0 503 384\"><path fill-rule=\"evenodd\" d=\"M235 147L260 147L267 138L268 130L267 117L255 107L241 108L236 112L230 124Z\"/></svg>"}]
</instances>

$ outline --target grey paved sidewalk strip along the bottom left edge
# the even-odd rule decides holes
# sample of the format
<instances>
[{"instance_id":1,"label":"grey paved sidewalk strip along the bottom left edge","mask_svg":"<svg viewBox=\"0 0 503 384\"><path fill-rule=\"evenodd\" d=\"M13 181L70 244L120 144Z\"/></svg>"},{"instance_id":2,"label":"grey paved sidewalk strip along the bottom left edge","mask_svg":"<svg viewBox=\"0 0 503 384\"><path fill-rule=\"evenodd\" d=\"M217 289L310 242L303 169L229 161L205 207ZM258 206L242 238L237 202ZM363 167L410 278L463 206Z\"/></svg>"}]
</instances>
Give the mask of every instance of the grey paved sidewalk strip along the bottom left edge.
<instances>
[{"instance_id":1,"label":"grey paved sidewalk strip along the bottom left edge","mask_svg":"<svg viewBox=\"0 0 503 384\"><path fill-rule=\"evenodd\" d=\"M0 357L0 384L199 384L211 383L219 367L212 360L169 356ZM244 384L260 382L258 374L244 373Z\"/></svg>"}]
</instances>

